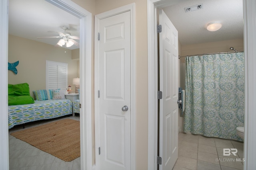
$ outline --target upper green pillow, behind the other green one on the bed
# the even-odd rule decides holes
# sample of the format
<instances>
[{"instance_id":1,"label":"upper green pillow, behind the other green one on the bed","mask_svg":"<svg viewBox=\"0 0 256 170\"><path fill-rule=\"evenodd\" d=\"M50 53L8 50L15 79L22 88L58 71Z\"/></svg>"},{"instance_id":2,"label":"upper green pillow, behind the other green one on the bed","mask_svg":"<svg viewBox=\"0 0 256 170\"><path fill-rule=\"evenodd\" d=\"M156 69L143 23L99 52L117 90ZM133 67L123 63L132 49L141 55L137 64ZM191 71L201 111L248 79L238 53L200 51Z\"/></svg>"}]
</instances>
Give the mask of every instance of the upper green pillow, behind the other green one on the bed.
<instances>
[{"instance_id":1,"label":"upper green pillow, behind the other green one on the bed","mask_svg":"<svg viewBox=\"0 0 256 170\"><path fill-rule=\"evenodd\" d=\"M8 95L10 96L30 96L28 83L8 84Z\"/></svg>"}]
</instances>

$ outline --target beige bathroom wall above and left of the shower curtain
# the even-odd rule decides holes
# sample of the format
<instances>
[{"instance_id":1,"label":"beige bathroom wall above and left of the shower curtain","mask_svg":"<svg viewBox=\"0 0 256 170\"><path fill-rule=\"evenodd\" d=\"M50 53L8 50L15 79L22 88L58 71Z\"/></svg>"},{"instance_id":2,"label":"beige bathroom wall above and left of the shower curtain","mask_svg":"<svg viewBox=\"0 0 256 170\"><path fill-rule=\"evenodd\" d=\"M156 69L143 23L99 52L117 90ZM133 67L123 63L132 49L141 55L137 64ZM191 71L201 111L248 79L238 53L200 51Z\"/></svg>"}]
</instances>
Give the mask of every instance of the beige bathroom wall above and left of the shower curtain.
<instances>
[{"instance_id":1,"label":"beige bathroom wall above and left of the shower curtain","mask_svg":"<svg viewBox=\"0 0 256 170\"><path fill-rule=\"evenodd\" d=\"M203 44L193 44L193 45L181 45L179 49L181 50L180 56L186 55L197 55L205 53L218 53L233 51L230 47L234 47L237 51L244 51L244 39L233 39L227 41L218 41ZM185 58L180 58L180 87L185 89L185 73L186 73L186 63ZM179 117L179 131L183 131L183 117Z\"/></svg>"}]
</instances>

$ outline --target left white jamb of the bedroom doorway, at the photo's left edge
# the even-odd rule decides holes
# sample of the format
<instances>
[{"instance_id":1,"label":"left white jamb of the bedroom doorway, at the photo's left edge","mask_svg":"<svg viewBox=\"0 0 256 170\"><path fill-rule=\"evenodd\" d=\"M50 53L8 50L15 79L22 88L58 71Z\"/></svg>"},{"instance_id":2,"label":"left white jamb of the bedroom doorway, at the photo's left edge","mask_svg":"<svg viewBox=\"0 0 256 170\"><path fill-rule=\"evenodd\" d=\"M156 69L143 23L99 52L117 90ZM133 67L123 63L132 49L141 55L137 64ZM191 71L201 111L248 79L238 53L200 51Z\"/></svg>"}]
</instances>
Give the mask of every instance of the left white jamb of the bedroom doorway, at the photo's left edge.
<instances>
[{"instance_id":1,"label":"left white jamb of the bedroom doorway, at the photo's left edge","mask_svg":"<svg viewBox=\"0 0 256 170\"><path fill-rule=\"evenodd\" d=\"M8 0L0 1L0 170L9 169L8 137ZM6 113L6 114L4 114Z\"/></svg>"}]
</instances>

